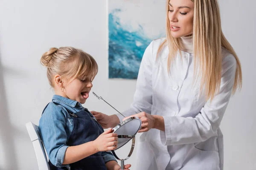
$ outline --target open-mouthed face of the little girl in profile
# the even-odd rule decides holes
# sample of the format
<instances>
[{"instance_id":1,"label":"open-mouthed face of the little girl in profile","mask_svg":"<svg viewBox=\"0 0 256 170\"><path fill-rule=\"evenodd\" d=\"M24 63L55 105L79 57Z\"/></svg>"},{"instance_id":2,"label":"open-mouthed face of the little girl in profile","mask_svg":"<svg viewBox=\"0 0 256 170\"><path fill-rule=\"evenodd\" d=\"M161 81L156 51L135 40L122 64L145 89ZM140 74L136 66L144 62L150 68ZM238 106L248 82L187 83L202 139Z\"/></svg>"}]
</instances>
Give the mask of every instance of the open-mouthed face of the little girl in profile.
<instances>
[{"instance_id":1,"label":"open-mouthed face of the little girl in profile","mask_svg":"<svg viewBox=\"0 0 256 170\"><path fill-rule=\"evenodd\" d=\"M84 104L86 99L89 97L91 88L93 87L92 78L77 78L72 82L64 83L64 89L61 96L67 97L68 99L75 100Z\"/></svg>"}]
</instances>

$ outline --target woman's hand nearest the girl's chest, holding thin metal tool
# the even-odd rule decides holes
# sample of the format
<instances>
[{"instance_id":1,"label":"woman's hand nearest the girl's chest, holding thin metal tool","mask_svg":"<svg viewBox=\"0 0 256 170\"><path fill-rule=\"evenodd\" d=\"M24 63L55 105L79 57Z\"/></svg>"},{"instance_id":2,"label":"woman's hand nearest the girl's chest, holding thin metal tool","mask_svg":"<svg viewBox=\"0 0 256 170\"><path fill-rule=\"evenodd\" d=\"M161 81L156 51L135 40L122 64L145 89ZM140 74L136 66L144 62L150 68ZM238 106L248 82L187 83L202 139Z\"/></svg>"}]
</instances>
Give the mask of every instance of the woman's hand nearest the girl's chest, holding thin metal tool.
<instances>
[{"instance_id":1,"label":"woman's hand nearest the girl's chest, holding thin metal tool","mask_svg":"<svg viewBox=\"0 0 256 170\"><path fill-rule=\"evenodd\" d=\"M109 127L115 127L120 123L116 115L108 116L104 113L100 113L96 111L90 111L90 112L93 114L93 116L96 118L99 124L102 125L104 129L107 129Z\"/></svg>"}]
</instances>

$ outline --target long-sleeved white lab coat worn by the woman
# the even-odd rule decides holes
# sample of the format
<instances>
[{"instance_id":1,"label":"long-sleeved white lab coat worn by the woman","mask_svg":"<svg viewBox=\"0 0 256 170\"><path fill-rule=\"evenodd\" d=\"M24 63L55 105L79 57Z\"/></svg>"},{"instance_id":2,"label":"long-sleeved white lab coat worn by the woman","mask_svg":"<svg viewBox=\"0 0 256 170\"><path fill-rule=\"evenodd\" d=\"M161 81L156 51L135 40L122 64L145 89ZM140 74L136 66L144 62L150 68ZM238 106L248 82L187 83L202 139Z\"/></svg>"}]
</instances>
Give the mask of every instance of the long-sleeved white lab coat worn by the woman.
<instances>
[{"instance_id":1,"label":"long-sleeved white lab coat worn by the woman","mask_svg":"<svg viewBox=\"0 0 256 170\"><path fill-rule=\"evenodd\" d=\"M154 40L143 55L136 92L125 116L145 111L164 118L165 132L151 129L140 136L137 170L223 170L223 136L219 128L232 94L236 59L222 48L221 87L210 103L199 94L200 79L192 87L193 55L177 54L167 71L169 49L160 58L163 39ZM122 120L122 116L118 115Z\"/></svg>"}]
</instances>

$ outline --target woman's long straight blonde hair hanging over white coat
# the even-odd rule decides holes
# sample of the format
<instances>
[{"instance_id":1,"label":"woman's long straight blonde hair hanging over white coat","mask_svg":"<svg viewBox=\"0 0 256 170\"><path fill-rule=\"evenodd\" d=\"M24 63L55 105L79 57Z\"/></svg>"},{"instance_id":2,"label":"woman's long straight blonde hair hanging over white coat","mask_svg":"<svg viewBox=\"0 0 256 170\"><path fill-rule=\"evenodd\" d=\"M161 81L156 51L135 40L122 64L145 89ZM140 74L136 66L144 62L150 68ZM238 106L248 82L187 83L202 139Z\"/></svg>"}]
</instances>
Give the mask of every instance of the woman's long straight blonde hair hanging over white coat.
<instances>
[{"instance_id":1,"label":"woman's long straight blonde hair hanging over white coat","mask_svg":"<svg viewBox=\"0 0 256 170\"><path fill-rule=\"evenodd\" d=\"M221 85L221 47L226 48L236 58L236 77L233 85L233 94L236 89L241 89L242 72L241 64L236 52L225 38L221 30L221 17L218 6L218 0L191 0L194 6L193 18L193 47L194 47L194 77L200 73L201 87L205 87L206 99L213 99L220 90ZM171 35L170 23L168 18L169 0L166 0L166 40L160 45L157 56L167 45L169 48L168 71L180 50L180 38L174 38ZM198 69L199 63L199 69ZM195 78L194 78L195 80Z\"/></svg>"}]
</instances>

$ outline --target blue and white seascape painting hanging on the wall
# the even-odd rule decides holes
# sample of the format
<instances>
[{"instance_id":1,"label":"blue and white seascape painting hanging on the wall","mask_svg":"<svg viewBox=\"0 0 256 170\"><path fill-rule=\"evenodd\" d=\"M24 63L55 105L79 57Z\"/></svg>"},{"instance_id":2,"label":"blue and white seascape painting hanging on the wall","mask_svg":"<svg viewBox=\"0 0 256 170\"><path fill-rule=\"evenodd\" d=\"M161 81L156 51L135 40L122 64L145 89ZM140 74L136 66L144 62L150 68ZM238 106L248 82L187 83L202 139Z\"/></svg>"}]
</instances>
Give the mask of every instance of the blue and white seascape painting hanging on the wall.
<instances>
[{"instance_id":1,"label":"blue and white seascape painting hanging on the wall","mask_svg":"<svg viewBox=\"0 0 256 170\"><path fill-rule=\"evenodd\" d=\"M108 0L108 77L137 79L152 40L165 37L166 0Z\"/></svg>"}]
</instances>

